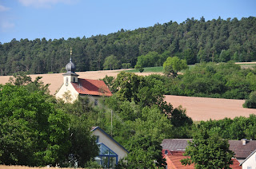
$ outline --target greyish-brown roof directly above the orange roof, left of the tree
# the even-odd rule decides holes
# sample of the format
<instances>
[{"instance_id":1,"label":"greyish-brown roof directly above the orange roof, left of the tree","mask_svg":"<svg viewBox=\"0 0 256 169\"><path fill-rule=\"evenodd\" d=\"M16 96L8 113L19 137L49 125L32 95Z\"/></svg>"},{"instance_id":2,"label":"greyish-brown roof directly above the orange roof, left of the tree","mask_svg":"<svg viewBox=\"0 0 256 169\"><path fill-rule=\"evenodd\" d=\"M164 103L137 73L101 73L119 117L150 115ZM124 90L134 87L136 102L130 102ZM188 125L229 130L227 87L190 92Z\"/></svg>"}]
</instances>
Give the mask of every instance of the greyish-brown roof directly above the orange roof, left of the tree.
<instances>
[{"instance_id":1,"label":"greyish-brown roof directly above the orange roof, left of the tree","mask_svg":"<svg viewBox=\"0 0 256 169\"><path fill-rule=\"evenodd\" d=\"M185 151L188 141L192 139L165 139L162 140L162 149L170 151Z\"/></svg>"}]
</instances>

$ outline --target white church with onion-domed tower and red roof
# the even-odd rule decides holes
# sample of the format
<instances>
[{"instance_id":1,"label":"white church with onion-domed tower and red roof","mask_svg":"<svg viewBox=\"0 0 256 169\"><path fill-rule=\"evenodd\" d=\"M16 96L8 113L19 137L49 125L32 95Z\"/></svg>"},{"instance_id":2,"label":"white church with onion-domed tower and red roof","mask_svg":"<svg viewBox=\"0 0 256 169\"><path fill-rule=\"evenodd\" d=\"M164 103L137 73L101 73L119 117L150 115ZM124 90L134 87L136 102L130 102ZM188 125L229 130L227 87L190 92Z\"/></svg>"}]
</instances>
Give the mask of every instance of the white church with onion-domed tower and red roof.
<instances>
[{"instance_id":1,"label":"white church with onion-domed tower and red roof","mask_svg":"<svg viewBox=\"0 0 256 169\"><path fill-rule=\"evenodd\" d=\"M112 96L110 89L104 81L80 79L75 73L75 66L71 60L66 65L66 73L63 74L63 84L55 92L56 98L66 100L66 102L74 102L78 96L88 96L90 102L94 105L98 104L98 99L102 96Z\"/></svg>"}]
</instances>

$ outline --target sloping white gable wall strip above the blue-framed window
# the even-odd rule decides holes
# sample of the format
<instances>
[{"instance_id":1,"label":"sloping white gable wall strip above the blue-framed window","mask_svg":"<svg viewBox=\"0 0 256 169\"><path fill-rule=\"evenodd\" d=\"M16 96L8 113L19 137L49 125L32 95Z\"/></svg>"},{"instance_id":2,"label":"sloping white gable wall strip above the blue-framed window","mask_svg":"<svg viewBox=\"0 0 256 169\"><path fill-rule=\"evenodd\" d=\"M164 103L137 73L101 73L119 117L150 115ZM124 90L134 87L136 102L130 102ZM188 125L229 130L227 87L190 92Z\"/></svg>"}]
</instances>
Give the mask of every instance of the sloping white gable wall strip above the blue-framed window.
<instances>
[{"instance_id":1,"label":"sloping white gable wall strip above the blue-framed window","mask_svg":"<svg viewBox=\"0 0 256 169\"><path fill-rule=\"evenodd\" d=\"M117 143L115 143L113 140L111 140L108 136L106 136L100 130L98 130L98 129L94 130L93 135L98 136L98 143L104 143L112 151L114 151L116 154L118 154L118 161L120 159L123 159L127 155L127 152L122 147L120 147Z\"/></svg>"}]
</instances>

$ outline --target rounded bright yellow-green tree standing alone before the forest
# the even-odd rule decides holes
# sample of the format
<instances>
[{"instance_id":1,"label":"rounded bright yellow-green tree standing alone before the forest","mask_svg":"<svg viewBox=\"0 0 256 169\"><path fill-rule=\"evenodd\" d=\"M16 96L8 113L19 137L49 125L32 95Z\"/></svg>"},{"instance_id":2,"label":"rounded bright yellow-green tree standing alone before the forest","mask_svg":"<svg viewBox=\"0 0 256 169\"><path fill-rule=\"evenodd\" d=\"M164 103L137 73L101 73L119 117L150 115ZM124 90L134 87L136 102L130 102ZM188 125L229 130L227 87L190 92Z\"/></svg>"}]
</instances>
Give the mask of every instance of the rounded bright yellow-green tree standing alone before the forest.
<instances>
[{"instance_id":1,"label":"rounded bright yellow-green tree standing alone before the forest","mask_svg":"<svg viewBox=\"0 0 256 169\"><path fill-rule=\"evenodd\" d=\"M187 68L186 60L179 59L178 57L168 57L163 63L164 73L167 77L177 77L178 71Z\"/></svg>"}]
</instances>

